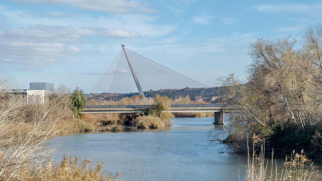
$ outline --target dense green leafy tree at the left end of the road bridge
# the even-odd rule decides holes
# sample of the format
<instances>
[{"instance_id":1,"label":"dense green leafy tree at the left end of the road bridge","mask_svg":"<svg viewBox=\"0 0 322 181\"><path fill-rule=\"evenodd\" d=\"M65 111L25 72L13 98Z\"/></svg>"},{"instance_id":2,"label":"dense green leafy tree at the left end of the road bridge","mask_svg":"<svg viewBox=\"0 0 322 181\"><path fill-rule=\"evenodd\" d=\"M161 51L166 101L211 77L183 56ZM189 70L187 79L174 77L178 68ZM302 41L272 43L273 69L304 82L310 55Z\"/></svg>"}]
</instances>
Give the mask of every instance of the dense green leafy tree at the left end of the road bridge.
<instances>
[{"instance_id":1,"label":"dense green leafy tree at the left end of the road bridge","mask_svg":"<svg viewBox=\"0 0 322 181\"><path fill-rule=\"evenodd\" d=\"M80 116L80 111L86 108L87 99L83 90L77 87L71 94L71 110L75 115Z\"/></svg>"}]
</instances>

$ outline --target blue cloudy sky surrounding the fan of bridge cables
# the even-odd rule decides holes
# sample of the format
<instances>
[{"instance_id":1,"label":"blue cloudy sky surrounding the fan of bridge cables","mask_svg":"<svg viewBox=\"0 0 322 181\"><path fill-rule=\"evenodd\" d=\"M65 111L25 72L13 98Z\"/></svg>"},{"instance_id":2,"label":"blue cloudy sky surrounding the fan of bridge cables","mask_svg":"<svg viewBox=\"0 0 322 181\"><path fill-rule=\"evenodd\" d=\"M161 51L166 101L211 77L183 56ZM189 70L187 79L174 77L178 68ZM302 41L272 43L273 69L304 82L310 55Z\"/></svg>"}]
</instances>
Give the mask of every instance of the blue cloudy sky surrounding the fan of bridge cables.
<instances>
[{"instance_id":1,"label":"blue cloudy sky surrounding the fan of bridge cables","mask_svg":"<svg viewBox=\"0 0 322 181\"><path fill-rule=\"evenodd\" d=\"M322 21L322 1L1 0L0 64L21 88L89 93L126 48L210 87L245 80L250 43Z\"/></svg>"}]
</instances>

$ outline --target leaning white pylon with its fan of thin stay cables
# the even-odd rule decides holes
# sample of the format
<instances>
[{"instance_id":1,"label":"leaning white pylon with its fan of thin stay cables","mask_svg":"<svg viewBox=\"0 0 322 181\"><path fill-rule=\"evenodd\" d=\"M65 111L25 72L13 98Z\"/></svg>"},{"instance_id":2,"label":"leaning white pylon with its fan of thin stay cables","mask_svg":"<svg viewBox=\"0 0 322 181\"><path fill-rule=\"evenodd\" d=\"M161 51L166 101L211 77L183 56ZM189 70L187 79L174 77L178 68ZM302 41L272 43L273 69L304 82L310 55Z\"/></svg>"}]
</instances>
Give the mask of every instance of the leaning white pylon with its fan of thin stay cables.
<instances>
[{"instance_id":1,"label":"leaning white pylon with its fan of thin stay cables","mask_svg":"<svg viewBox=\"0 0 322 181\"><path fill-rule=\"evenodd\" d=\"M118 52L91 93L128 93L137 90L140 95L145 96L145 88L160 90L209 87L145 58L125 48L123 44L121 46L122 50Z\"/></svg>"}]
</instances>

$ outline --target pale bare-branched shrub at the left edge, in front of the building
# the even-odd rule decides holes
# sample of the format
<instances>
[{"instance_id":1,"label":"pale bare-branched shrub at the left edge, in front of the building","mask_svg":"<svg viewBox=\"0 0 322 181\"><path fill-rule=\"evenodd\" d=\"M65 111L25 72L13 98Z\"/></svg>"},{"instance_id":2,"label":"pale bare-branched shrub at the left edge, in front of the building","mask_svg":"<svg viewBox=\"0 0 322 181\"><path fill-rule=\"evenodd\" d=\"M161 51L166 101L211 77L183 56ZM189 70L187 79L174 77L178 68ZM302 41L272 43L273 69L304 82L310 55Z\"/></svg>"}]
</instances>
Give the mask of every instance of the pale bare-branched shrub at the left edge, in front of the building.
<instances>
[{"instance_id":1,"label":"pale bare-branched shrub at the left edge, in front of the building","mask_svg":"<svg viewBox=\"0 0 322 181\"><path fill-rule=\"evenodd\" d=\"M54 148L48 143L58 131L57 121L64 116L59 110L68 98L57 96L49 104L33 105L27 120L24 98L6 91L13 80L3 76L0 83L0 180L15 180L51 156Z\"/></svg>"}]
</instances>

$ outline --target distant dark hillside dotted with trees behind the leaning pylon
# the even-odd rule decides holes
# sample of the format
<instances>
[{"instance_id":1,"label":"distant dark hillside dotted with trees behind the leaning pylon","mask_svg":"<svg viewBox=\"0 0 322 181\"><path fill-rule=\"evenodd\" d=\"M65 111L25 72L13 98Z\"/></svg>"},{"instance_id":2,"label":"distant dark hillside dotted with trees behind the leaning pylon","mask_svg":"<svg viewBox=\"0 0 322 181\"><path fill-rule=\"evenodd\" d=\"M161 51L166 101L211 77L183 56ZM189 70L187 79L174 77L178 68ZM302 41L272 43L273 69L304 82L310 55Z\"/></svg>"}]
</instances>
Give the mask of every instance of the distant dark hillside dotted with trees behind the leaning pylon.
<instances>
[{"instance_id":1,"label":"distant dark hillside dotted with trees behind the leaning pylon","mask_svg":"<svg viewBox=\"0 0 322 181\"><path fill-rule=\"evenodd\" d=\"M219 88L220 95L224 95L226 90L224 87ZM144 92L146 94L146 92ZM131 97L139 95L137 92L120 94L120 93L90 93L86 94L88 100L120 100L123 97ZM190 96L191 100L202 99L206 102L217 103L218 87L211 88L185 88L185 89L162 89L162 90L149 90L147 91L148 97L155 97L156 95L167 96L171 99L177 99L186 95Z\"/></svg>"}]
</instances>

